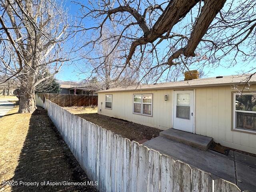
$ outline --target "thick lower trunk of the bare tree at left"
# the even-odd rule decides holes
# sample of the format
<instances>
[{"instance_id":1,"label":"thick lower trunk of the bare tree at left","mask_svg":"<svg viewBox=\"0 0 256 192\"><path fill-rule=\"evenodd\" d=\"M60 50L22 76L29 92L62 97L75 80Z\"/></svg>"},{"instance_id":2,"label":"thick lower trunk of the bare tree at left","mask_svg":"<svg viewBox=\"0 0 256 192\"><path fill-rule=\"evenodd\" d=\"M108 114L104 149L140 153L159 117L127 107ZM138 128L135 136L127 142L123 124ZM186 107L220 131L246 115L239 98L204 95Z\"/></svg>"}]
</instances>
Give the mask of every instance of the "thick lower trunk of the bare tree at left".
<instances>
[{"instance_id":1,"label":"thick lower trunk of the bare tree at left","mask_svg":"<svg viewBox=\"0 0 256 192\"><path fill-rule=\"evenodd\" d=\"M20 107L18 113L33 113L36 110L34 88L21 88L19 102Z\"/></svg>"}]
</instances>

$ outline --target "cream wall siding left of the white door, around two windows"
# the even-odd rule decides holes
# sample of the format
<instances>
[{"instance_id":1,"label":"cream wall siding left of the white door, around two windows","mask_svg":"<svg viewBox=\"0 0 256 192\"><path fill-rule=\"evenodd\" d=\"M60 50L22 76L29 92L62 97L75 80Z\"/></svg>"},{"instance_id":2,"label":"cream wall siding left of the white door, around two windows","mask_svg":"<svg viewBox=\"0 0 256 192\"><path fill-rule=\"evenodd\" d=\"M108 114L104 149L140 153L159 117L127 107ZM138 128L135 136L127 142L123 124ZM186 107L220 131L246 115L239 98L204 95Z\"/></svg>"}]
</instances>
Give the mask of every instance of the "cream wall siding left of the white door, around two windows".
<instances>
[{"instance_id":1,"label":"cream wall siding left of the white door, around two windows","mask_svg":"<svg viewBox=\"0 0 256 192\"><path fill-rule=\"evenodd\" d=\"M105 95L112 94L112 110L105 108ZM153 116L133 114L133 94L153 94ZM168 94L168 100L164 95ZM102 104L101 104L102 102ZM101 109L101 111L100 111ZM145 90L98 93L98 113L167 130L172 126L172 90Z\"/></svg>"}]
</instances>

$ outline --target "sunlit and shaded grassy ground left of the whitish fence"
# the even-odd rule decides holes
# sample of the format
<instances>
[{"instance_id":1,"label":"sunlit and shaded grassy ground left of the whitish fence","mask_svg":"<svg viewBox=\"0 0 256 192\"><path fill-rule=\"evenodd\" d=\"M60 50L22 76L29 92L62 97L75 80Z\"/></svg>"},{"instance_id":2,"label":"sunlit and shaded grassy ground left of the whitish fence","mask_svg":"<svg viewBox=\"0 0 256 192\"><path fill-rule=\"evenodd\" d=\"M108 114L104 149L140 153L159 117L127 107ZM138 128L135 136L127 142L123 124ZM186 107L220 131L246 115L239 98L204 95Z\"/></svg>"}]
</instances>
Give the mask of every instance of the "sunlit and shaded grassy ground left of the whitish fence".
<instances>
[{"instance_id":1,"label":"sunlit and shaded grassy ground left of the whitish fence","mask_svg":"<svg viewBox=\"0 0 256 192\"><path fill-rule=\"evenodd\" d=\"M0 192L96 191L94 186L68 186L89 181L45 110L18 114L18 106L0 118ZM13 182L13 186L2 184ZM64 182L50 186L47 182ZM46 182L26 186L25 182ZM50 183L49 183L50 184Z\"/></svg>"}]
</instances>

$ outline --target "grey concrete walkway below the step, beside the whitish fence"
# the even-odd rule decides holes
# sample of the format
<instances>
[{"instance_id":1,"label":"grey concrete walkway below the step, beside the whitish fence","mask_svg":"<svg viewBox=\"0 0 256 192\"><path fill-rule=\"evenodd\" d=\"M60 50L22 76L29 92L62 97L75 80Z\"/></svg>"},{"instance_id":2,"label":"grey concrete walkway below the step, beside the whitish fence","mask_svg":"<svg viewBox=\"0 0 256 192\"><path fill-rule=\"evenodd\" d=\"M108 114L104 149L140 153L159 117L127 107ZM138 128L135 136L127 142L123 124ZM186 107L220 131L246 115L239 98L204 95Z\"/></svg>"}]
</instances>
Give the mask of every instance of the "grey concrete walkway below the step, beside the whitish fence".
<instances>
[{"instance_id":1,"label":"grey concrete walkway below the step, beside the whitish fence","mask_svg":"<svg viewBox=\"0 0 256 192\"><path fill-rule=\"evenodd\" d=\"M256 192L256 158L230 150L228 156L212 150L200 150L184 143L158 136L143 143L148 148L181 160L217 177L235 183L242 190Z\"/></svg>"}]
</instances>

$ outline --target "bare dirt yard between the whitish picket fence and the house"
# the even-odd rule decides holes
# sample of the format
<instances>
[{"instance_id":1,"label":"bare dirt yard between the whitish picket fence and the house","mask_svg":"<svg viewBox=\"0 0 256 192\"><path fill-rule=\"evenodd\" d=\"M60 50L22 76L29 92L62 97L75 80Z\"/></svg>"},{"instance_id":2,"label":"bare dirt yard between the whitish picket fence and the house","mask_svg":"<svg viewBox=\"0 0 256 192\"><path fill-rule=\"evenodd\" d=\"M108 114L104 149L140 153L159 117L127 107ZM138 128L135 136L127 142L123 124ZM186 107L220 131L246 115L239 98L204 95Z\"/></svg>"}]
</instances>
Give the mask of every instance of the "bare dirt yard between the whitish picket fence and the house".
<instances>
[{"instance_id":1,"label":"bare dirt yard between the whitish picket fence and the house","mask_svg":"<svg viewBox=\"0 0 256 192\"><path fill-rule=\"evenodd\" d=\"M112 132L122 135L131 141L134 140L139 143L159 136L159 132L162 131L157 128L97 114L96 107L66 107L66 109L81 118L97 124L98 126L102 126L107 130L111 130Z\"/></svg>"}]
</instances>

